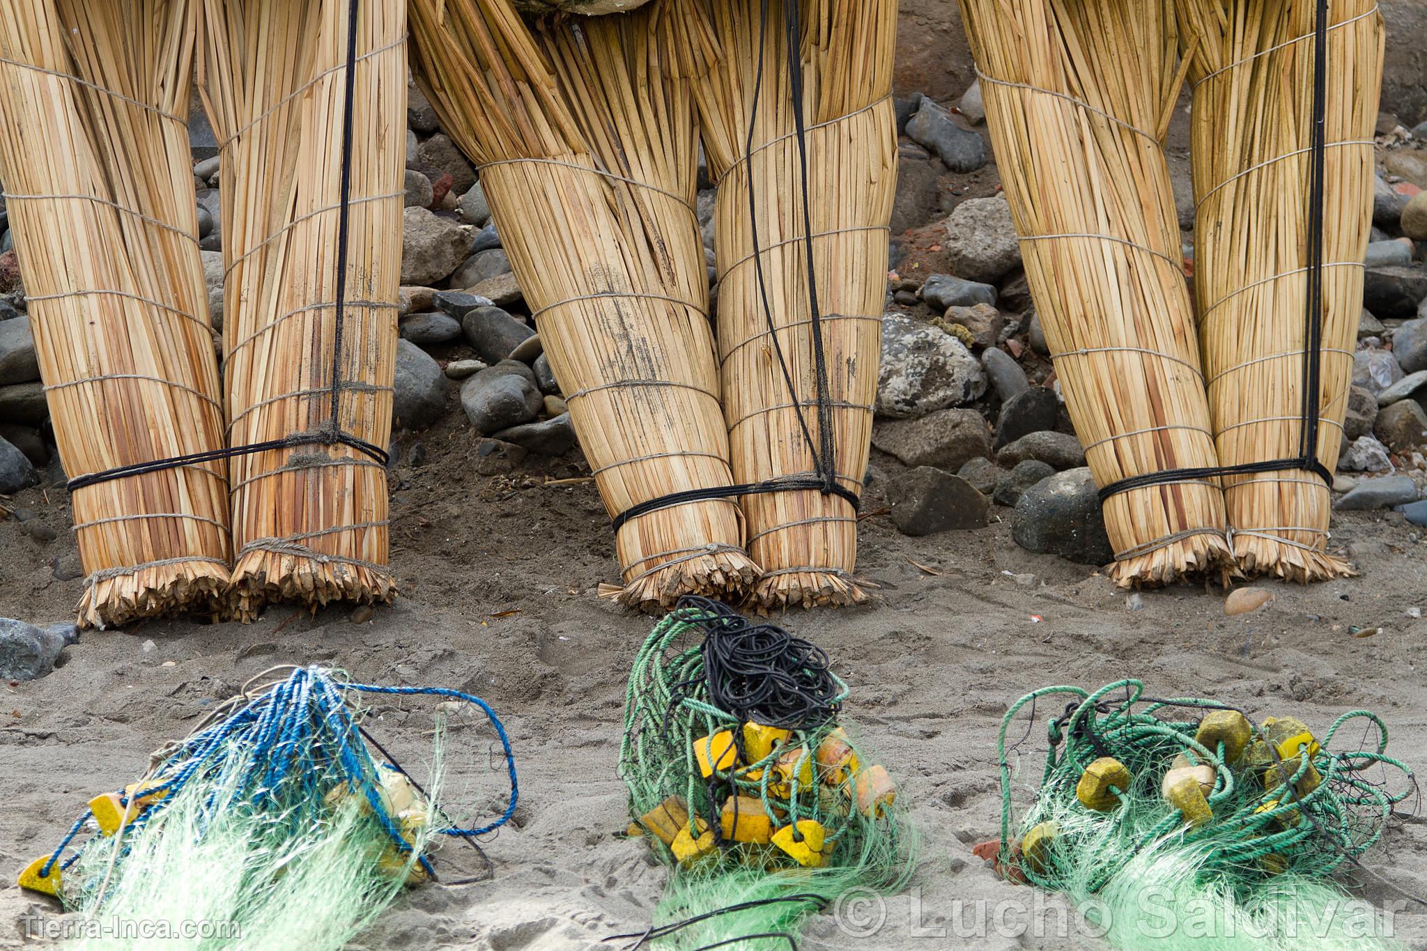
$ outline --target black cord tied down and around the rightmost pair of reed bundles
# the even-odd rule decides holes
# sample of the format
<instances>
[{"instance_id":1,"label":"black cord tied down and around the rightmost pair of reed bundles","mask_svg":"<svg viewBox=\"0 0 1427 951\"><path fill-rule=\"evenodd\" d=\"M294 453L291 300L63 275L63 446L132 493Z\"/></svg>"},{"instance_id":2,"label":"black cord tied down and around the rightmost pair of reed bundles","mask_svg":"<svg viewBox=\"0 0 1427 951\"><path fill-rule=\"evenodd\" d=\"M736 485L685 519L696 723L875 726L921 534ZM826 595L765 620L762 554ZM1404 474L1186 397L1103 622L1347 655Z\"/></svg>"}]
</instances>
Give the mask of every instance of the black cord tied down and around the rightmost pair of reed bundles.
<instances>
[{"instance_id":1,"label":"black cord tied down and around the rightmost pair of reed bundles","mask_svg":"<svg viewBox=\"0 0 1427 951\"><path fill-rule=\"evenodd\" d=\"M1246 462L1237 466L1214 466L1202 469L1164 469L1120 479L1100 489L1100 502L1120 492L1144 489L1172 482L1194 482L1230 475L1253 475L1257 472L1283 472L1303 469L1314 473L1326 485L1333 485L1333 473L1319 461L1319 425L1323 378L1323 204L1327 155L1327 34L1329 0L1317 0L1313 23L1313 131L1310 141L1309 178L1309 267L1307 307L1304 314L1303 346L1303 428L1299 432L1299 455L1293 459L1271 459Z\"/></svg>"}]
</instances>

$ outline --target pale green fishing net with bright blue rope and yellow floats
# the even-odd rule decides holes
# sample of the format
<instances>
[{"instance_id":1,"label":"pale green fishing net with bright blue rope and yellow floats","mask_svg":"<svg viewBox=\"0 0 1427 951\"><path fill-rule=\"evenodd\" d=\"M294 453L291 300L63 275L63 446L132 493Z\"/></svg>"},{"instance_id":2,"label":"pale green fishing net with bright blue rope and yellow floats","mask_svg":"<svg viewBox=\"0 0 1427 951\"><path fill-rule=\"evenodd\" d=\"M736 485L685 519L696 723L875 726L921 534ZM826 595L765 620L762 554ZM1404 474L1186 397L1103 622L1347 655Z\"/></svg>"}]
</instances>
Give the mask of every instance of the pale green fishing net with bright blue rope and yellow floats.
<instances>
[{"instance_id":1,"label":"pale green fishing net with bright blue rope and yellow floats","mask_svg":"<svg viewBox=\"0 0 1427 951\"><path fill-rule=\"evenodd\" d=\"M505 751L504 814L479 828L454 827L437 801L440 720L431 778L422 787L362 726L357 704L371 694L478 707ZM186 739L156 751L137 783L96 797L21 884L56 893L91 920L146 921L164 930L96 930L81 942L90 948L143 948L168 935L164 947L335 950L404 884L435 877L428 854L440 837L474 844L475 836L511 817L515 800L509 741L478 697L281 667L218 704Z\"/></svg>"}]
</instances>

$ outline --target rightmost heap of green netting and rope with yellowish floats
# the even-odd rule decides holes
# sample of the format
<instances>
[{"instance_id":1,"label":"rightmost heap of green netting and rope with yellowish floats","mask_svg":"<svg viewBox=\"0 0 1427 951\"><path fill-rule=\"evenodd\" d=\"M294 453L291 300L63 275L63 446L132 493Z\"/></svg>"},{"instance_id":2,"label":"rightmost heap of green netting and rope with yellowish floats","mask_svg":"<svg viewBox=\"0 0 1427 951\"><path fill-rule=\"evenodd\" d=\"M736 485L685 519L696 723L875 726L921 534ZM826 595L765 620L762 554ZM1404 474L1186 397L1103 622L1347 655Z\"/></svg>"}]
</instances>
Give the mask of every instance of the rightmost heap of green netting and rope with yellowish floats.
<instances>
[{"instance_id":1,"label":"rightmost heap of green netting and rope with yellowish floats","mask_svg":"<svg viewBox=\"0 0 1427 951\"><path fill-rule=\"evenodd\" d=\"M1036 707L1065 696L1040 788L1017 816L1009 754ZM1032 724L1007 749L1027 707ZM1340 749L1350 734L1357 746ZM1373 713L1314 734L1289 716L1253 726L1209 700L1146 697L1139 680L1057 686L1012 704L997 750L1000 868L1082 903L1120 947L1301 948L1309 937L1320 948L1397 947L1330 878L1417 793ZM1207 924L1180 927L1190 907Z\"/></svg>"}]
</instances>

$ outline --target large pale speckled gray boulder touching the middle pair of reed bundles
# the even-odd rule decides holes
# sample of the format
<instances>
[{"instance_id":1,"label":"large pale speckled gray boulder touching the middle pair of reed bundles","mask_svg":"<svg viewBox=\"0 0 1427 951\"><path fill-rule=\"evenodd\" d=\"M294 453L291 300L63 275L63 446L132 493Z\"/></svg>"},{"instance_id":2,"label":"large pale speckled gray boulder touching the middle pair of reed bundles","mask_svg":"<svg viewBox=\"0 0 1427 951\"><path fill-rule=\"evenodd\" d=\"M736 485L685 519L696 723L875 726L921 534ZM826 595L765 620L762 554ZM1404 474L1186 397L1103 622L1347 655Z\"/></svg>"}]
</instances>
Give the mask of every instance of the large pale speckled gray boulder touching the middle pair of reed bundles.
<instances>
[{"instance_id":1,"label":"large pale speckled gray boulder touching the middle pair of reed bundles","mask_svg":"<svg viewBox=\"0 0 1427 951\"><path fill-rule=\"evenodd\" d=\"M902 419L969 403L986 392L986 371L960 341L903 314L882 318L878 415Z\"/></svg>"}]
</instances>

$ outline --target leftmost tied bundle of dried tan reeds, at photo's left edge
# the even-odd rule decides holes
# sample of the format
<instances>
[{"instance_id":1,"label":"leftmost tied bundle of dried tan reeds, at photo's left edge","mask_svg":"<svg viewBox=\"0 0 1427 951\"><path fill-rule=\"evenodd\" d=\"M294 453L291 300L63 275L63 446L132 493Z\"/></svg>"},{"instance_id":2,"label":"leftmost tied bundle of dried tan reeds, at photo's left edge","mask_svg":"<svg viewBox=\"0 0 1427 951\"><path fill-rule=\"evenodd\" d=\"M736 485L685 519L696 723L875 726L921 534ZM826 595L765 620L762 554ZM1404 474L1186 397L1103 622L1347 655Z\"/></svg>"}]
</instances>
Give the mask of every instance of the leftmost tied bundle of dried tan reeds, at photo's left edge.
<instances>
[{"instance_id":1,"label":"leftmost tied bundle of dried tan reeds, at photo's left edge","mask_svg":"<svg viewBox=\"0 0 1427 951\"><path fill-rule=\"evenodd\" d=\"M195 23L188 0L0 3L0 180L73 476L223 446L184 118ZM80 623L214 609L221 462L83 486L73 509Z\"/></svg>"}]
</instances>

